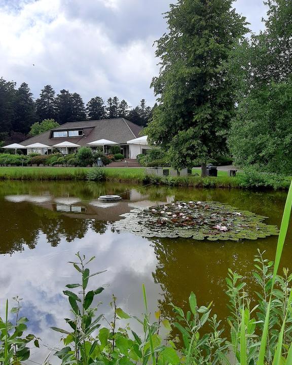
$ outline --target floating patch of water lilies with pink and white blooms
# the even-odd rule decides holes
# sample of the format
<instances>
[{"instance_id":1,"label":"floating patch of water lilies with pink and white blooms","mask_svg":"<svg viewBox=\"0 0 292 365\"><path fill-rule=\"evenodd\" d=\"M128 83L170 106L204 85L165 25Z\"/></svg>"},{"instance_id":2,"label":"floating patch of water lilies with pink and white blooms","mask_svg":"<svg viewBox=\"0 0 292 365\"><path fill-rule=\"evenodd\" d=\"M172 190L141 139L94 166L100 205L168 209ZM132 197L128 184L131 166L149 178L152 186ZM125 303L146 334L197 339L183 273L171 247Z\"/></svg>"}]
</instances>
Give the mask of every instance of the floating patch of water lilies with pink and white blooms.
<instances>
[{"instance_id":1,"label":"floating patch of water lilies with pink and white blooms","mask_svg":"<svg viewBox=\"0 0 292 365\"><path fill-rule=\"evenodd\" d=\"M267 217L218 202L178 201L135 209L122 216L115 229L143 237L238 241L278 234L276 226L263 223Z\"/></svg>"}]
</instances>

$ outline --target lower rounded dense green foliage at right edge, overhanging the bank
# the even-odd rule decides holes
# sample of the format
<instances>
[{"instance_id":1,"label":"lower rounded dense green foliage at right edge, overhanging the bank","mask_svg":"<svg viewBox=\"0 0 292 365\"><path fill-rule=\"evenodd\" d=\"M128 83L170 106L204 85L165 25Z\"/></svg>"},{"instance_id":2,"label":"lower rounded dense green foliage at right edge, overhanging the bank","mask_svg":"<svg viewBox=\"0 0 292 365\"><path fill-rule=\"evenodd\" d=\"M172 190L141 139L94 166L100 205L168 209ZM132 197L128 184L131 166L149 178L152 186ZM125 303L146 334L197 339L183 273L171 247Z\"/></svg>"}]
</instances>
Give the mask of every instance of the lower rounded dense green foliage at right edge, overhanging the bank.
<instances>
[{"instance_id":1,"label":"lower rounded dense green foliage at right edge, overhanging the bank","mask_svg":"<svg viewBox=\"0 0 292 365\"><path fill-rule=\"evenodd\" d=\"M291 174L292 79L249 94L238 106L229 147L235 163Z\"/></svg>"}]
</instances>

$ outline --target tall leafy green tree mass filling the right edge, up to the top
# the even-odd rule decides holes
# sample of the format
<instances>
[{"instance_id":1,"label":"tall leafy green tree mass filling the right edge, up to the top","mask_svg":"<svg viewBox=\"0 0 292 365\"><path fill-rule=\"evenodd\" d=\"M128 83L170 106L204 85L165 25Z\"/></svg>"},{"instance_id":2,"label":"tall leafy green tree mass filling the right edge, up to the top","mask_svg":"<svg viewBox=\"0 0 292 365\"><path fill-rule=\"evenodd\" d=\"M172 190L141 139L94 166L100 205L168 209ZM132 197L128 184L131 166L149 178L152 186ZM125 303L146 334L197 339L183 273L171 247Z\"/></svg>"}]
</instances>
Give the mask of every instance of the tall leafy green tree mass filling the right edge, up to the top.
<instances>
[{"instance_id":1,"label":"tall leafy green tree mass filling the right edge, up to the top","mask_svg":"<svg viewBox=\"0 0 292 365\"><path fill-rule=\"evenodd\" d=\"M290 174L292 3L268 0L266 28L233 52L238 110L229 137L235 162Z\"/></svg>"}]
</instances>

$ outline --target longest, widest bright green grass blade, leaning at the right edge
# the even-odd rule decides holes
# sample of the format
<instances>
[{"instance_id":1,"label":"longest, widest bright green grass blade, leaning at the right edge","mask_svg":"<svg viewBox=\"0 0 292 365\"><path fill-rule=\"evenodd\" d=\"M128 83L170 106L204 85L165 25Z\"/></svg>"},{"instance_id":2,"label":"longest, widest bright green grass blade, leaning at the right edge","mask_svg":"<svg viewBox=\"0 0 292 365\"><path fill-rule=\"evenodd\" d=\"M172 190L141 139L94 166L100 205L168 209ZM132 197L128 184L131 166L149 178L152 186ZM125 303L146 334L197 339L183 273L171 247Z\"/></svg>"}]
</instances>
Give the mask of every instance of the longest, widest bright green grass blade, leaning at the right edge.
<instances>
[{"instance_id":1,"label":"longest, widest bright green grass blade, leaning at the right edge","mask_svg":"<svg viewBox=\"0 0 292 365\"><path fill-rule=\"evenodd\" d=\"M280 233L279 233L279 237L278 237L276 258L275 258L275 264L274 264L274 272L273 272L273 278L272 278L271 297L270 297L269 304L268 304L268 307L267 307L264 330L263 330L261 346L260 346L258 365L264 365L264 361L265 361L267 337L268 337L268 330L269 330L272 292L273 292L273 287L274 287L274 284L275 284L275 281L276 281L276 275L277 275L277 272L278 272L278 269L279 269L280 259L281 259L283 246L284 246L284 242L285 242L285 238L286 238L286 234L287 234L287 230L288 230L290 214L291 214L291 208L292 208L292 182L290 184L290 188L289 188L289 191L288 191L286 204L285 204L285 208L284 208L284 213L283 213L283 217L282 217L282 222L281 222Z\"/></svg>"}]
</instances>

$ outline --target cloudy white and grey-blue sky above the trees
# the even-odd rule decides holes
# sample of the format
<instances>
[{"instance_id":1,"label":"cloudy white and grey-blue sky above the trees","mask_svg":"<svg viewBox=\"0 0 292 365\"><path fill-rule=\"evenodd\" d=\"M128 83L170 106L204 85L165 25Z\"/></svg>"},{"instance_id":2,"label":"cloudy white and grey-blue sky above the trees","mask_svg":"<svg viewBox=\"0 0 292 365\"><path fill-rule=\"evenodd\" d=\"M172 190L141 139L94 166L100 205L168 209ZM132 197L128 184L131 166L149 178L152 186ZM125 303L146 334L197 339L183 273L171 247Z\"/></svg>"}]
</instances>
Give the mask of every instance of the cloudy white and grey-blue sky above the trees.
<instances>
[{"instance_id":1,"label":"cloudy white and grey-blue sky above the trees","mask_svg":"<svg viewBox=\"0 0 292 365\"><path fill-rule=\"evenodd\" d=\"M157 75L153 42L166 29L170 0L0 0L0 77L78 92L87 102L117 95L132 106ZM237 0L253 31L263 28L263 0Z\"/></svg>"}]
</instances>

